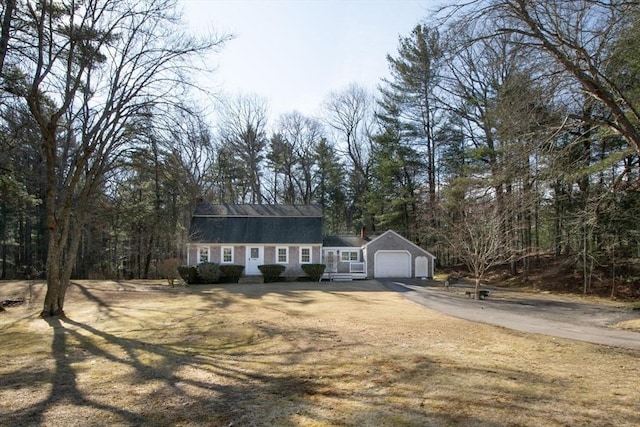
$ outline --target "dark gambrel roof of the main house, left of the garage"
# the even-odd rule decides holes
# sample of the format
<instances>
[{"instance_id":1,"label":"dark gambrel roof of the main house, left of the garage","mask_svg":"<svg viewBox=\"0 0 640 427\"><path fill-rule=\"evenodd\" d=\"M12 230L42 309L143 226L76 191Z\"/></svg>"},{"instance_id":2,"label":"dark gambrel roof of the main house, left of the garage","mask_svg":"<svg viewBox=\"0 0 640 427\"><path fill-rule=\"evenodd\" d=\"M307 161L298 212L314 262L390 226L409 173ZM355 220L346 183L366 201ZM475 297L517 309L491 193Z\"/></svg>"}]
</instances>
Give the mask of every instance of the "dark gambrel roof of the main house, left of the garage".
<instances>
[{"instance_id":1,"label":"dark gambrel roof of the main house, left of the garage","mask_svg":"<svg viewBox=\"0 0 640 427\"><path fill-rule=\"evenodd\" d=\"M321 244L317 205L201 204L189 229L194 243Z\"/></svg>"}]
</instances>

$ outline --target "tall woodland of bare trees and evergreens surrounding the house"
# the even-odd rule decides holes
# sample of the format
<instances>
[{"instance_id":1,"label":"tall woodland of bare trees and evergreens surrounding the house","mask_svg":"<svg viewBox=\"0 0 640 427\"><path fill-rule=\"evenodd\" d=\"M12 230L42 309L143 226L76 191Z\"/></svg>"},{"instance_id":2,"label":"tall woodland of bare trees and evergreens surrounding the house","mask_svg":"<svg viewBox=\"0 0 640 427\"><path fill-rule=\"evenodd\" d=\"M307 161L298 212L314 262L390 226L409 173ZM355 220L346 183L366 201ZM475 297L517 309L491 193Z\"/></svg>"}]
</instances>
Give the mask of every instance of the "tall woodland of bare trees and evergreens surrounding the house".
<instances>
[{"instance_id":1,"label":"tall woodland of bare trees and evergreens surrounding the house","mask_svg":"<svg viewBox=\"0 0 640 427\"><path fill-rule=\"evenodd\" d=\"M637 2L461 2L416 17L374 92L275 119L225 95L213 120L190 75L231 37L190 36L177 6L1 6L1 277L46 271L43 314L70 277L183 256L200 201L317 203L327 234L393 229L478 283L542 255L585 292L596 272L637 281Z\"/></svg>"}]
</instances>

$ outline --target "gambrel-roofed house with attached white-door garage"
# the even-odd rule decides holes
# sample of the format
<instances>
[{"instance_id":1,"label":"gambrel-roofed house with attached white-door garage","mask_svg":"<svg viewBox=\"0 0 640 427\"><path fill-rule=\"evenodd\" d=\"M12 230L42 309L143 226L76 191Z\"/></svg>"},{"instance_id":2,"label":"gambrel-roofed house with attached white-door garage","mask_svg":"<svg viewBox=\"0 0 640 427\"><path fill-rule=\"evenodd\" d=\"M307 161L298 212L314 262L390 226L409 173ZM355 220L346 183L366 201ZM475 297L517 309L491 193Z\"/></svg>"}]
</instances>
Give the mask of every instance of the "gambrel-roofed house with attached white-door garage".
<instances>
[{"instance_id":1,"label":"gambrel-roofed house with attached white-door garage","mask_svg":"<svg viewBox=\"0 0 640 427\"><path fill-rule=\"evenodd\" d=\"M191 219L187 264L241 264L259 275L262 264L282 264L304 275L303 264L325 264L324 279L433 277L435 257L398 233L324 236L316 205L201 204Z\"/></svg>"}]
</instances>

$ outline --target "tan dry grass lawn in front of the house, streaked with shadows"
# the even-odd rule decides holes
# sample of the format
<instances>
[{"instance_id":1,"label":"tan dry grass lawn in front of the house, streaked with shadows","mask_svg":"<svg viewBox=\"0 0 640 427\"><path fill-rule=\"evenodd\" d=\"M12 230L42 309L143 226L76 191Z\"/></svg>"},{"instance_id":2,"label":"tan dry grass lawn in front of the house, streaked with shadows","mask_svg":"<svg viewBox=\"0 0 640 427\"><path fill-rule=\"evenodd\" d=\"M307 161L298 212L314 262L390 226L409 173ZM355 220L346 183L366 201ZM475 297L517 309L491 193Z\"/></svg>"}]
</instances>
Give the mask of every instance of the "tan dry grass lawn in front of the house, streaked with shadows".
<instances>
[{"instance_id":1,"label":"tan dry grass lawn in front of the house, streaked with shadows","mask_svg":"<svg viewBox=\"0 0 640 427\"><path fill-rule=\"evenodd\" d=\"M632 426L640 353L446 317L378 283L80 282L0 315L0 425Z\"/></svg>"}]
</instances>

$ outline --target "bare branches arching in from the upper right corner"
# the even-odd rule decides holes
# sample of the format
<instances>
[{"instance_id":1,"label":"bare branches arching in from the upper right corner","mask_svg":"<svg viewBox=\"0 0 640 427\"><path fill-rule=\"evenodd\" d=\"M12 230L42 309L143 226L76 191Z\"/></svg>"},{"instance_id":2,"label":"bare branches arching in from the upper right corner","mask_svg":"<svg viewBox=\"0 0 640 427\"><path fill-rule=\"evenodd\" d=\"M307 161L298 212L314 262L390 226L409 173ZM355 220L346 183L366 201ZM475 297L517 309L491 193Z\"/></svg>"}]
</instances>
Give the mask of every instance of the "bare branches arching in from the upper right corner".
<instances>
[{"instance_id":1,"label":"bare branches arching in from the upper right corner","mask_svg":"<svg viewBox=\"0 0 640 427\"><path fill-rule=\"evenodd\" d=\"M619 134L640 154L640 109L623 79L608 66L612 46L637 28L635 0L476 0L455 9L459 28L486 28L478 38L516 34L520 44L540 53L553 79L565 77L602 108L578 116ZM637 31L636 31L637 32ZM591 111L593 113L593 111Z\"/></svg>"}]
</instances>

